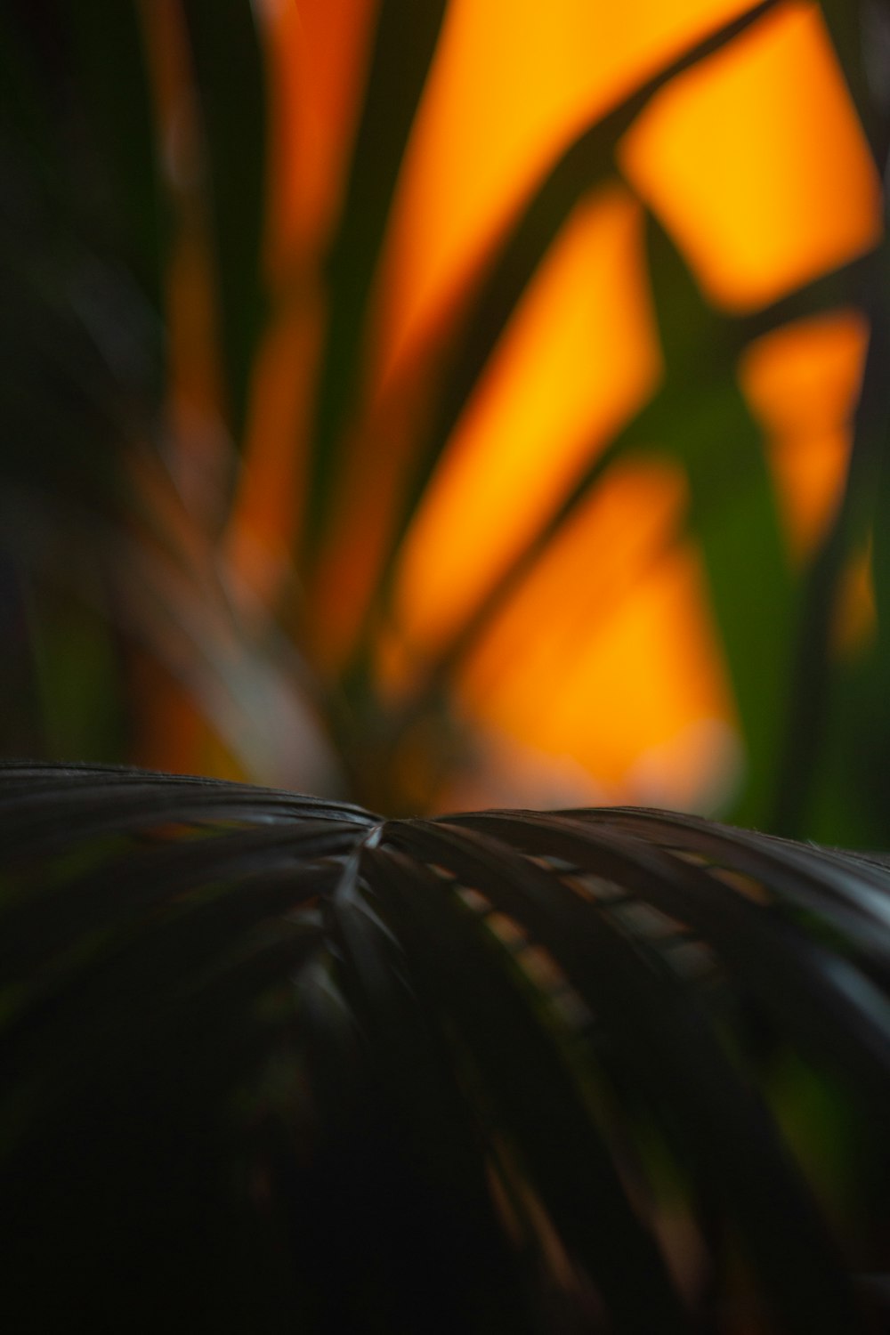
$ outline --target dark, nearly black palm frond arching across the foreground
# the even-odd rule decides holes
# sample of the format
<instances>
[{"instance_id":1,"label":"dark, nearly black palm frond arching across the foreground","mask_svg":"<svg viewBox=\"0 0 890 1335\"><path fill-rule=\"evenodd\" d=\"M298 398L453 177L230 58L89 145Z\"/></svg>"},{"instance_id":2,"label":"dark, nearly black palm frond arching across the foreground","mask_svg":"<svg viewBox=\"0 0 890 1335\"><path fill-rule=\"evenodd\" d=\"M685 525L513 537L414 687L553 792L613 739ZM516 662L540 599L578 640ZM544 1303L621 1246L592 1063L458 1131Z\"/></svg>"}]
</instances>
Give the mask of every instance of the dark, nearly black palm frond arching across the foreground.
<instances>
[{"instance_id":1,"label":"dark, nearly black palm frond arching across the foreground","mask_svg":"<svg viewBox=\"0 0 890 1335\"><path fill-rule=\"evenodd\" d=\"M890 869L0 769L5 1328L881 1330Z\"/></svg>"}]
</instances>

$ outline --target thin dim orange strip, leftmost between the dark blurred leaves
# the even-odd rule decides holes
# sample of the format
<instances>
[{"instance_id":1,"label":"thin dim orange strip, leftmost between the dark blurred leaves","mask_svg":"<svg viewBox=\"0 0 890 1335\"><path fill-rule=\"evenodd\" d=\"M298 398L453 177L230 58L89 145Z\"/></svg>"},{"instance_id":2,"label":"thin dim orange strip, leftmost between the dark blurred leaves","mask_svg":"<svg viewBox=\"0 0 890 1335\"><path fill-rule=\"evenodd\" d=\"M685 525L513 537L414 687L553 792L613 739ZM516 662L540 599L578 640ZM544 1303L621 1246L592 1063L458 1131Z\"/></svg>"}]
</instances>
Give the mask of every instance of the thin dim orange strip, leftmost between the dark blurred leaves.
<instances>
[{"instance_id":1,"label":"thin dim orange strip, leftmost between the dark blurred leaves","mask_svg":"<svg viewBox=\"0 0 890 1335\"><path fill-rule=\"evenodd\" d=\"M181 5L143 0L152 95L161 163L172 208L172 240L164 274L167 402L164 466L136 453L136 491L159 531L184 563L201 569L201 533L220 522L231 463L223 426L223 376L217 348L217 306L212 248L201 200L201 148L195 120L188 36ZM169 475L173 490L169 489ZM148 602L151 605L151 595ZM157 637L160 645L163 633ZM243 777L221 746L204 701L191 682L159 658L132 653L133 718L129 758L148 768Z\"/></svg>"}]
</instances>

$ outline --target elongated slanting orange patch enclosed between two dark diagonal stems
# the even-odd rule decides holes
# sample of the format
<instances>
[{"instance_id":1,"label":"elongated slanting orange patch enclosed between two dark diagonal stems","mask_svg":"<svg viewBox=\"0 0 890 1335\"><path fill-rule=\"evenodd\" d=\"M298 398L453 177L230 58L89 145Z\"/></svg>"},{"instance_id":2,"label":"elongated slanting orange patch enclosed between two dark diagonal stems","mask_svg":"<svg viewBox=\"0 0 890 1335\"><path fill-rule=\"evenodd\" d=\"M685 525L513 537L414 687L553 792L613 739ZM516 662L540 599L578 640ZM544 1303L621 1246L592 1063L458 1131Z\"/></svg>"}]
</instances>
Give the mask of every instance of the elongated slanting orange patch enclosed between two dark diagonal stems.
<instances>
[{"instance_id":1,"label":"elongated slanting orange patch enclosed between two dark diagonal stems","mask_svg":"<svg viewBox=\"0 0 890 1335\"><path fill-rule=\"evenodd\" d=\"M404 551L396 621L422 654L459 626L655 386L640 216L627 195L579 206L492 360Z\"/></svg>"}]
</instances>

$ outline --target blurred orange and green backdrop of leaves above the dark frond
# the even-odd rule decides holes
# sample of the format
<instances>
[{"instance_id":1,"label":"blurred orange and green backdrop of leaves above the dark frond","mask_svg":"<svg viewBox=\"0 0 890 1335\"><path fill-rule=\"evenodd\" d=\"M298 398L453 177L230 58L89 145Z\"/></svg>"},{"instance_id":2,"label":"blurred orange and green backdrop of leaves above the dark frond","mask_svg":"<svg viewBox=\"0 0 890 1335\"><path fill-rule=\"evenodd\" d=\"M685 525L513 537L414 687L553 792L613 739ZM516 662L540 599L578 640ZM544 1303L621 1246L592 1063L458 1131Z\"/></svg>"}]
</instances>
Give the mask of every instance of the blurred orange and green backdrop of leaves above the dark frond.
<instances>
[{"instance_id":1,"label":"blurred orange and green backdrop of leaves above the dark frond","mask_svg":"<svg viewBox=\"0 0 890 1335\"><path fill-rule=\"evenodd\" d=\"M0 753L889 844L887 32L5 0Z\"/></svg>"}]
</instances>

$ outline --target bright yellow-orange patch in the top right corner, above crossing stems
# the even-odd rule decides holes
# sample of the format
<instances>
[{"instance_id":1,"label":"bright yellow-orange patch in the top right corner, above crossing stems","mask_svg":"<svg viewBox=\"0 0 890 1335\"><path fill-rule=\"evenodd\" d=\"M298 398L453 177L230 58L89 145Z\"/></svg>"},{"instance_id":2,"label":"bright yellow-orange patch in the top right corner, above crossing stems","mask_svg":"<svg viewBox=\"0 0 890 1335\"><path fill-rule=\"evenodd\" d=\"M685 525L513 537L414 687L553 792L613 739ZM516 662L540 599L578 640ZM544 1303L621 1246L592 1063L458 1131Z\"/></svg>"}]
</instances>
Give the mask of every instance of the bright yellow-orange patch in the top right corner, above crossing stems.
<instances>
[{"instance_id":1,"label":"bright yellow-orange patch in the top right corner, above crossing stems","mask_svg":"<svg viewBox=\"0 0 890 1335\"><path fill-rule=\"evenodd\" d=\"M879 236L877 172L818 5L782 5L675 80L620 162L733 310L771 302Z\"/></svg>"}]
</instances>

